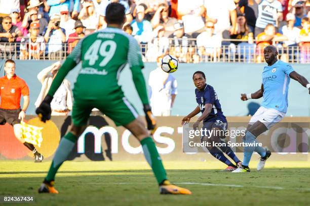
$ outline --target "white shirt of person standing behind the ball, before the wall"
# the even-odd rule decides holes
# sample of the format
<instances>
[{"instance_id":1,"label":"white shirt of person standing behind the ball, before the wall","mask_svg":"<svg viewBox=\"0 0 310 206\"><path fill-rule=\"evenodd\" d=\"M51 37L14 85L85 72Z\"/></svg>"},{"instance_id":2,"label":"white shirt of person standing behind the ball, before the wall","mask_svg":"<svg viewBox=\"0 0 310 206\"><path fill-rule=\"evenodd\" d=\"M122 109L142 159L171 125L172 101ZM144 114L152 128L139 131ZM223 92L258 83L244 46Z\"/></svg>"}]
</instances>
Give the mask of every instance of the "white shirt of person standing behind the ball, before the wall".
<instances>
[{"instance_id":1,"label":"white shirt of person standing behind the ball, before the wall","mask_svg":"<svg viewBox=\"0 0 310 206\"><path fill-rule=\"evenodd\" d=\"M150 72L150 106L154 116L170 116L171 96L177 94L177 81L172 74L157 68Z\"/></svg>"}]
</instances>

